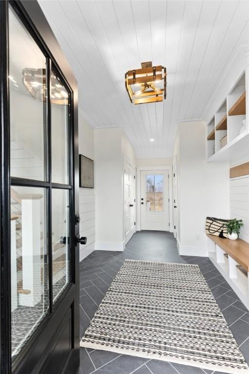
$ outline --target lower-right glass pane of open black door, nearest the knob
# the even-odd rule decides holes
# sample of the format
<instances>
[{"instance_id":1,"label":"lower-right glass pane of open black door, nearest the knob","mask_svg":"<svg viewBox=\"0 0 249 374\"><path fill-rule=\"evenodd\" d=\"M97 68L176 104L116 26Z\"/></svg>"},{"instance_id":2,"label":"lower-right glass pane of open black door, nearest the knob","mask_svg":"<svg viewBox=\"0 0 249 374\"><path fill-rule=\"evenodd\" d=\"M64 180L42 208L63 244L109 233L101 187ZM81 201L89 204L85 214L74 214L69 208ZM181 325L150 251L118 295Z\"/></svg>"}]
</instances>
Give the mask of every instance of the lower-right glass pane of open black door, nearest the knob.
<instances>
[{"instance_id":1,"label":"lower-right glass pane of open black door, nearest the knob","mask_svg":"<svg viewBox=\"0 0 249 374\"><path fill-rule=\"evenodd\" d=\"M52 189L53 301L70 281L69 190Z\"/></svg>"}]
</instances>

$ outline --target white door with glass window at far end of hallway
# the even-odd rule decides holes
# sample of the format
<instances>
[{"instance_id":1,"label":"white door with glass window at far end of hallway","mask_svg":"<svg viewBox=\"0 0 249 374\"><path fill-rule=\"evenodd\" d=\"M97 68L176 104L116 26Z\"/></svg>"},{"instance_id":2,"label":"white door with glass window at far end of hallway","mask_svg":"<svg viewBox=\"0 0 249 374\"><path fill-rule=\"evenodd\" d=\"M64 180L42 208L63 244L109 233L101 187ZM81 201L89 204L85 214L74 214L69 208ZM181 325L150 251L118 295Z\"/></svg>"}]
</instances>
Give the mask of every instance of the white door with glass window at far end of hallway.
<instances>
[{"instance_id":1,"label":"white door with glass window at far end of hallway","mask_svg":"<svg viewBox=\"0 0 249 374\"><path fill-rule=\"evenodd\" d=\"M141 230L169 231L169 171L141 171Z\"/></svg>"}]
</instances>

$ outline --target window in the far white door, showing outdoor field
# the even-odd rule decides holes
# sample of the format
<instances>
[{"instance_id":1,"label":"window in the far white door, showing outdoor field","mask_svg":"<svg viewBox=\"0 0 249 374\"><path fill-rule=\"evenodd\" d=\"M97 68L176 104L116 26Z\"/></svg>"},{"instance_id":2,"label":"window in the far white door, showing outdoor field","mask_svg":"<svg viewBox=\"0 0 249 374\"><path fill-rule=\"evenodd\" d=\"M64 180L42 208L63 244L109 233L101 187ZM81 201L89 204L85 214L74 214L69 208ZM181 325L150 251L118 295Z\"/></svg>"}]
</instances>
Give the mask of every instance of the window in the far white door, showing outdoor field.
<instances>
[{"instance_id":1,"label":"window in the far white door, showing outdoor field","mask_svg":"<svg viewBox=\"0 0 249 374\"><path fill-rule=\"evenodd\" d=\"M146 210L163 210L163 175L146 175Z\"/></svg>"}]
</instances>

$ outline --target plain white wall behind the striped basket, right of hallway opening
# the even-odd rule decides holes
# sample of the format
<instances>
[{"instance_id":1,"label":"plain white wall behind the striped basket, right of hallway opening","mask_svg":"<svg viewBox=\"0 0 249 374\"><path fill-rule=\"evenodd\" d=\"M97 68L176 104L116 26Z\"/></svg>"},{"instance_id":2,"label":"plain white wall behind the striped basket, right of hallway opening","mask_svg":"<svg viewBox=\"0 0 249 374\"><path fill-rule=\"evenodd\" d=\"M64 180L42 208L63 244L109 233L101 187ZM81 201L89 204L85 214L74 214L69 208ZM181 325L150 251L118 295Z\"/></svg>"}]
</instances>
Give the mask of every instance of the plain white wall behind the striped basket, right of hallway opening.
<instances>
[{"instance_id":1,"label":"plain white wall behind the striped basket, right of hallway opening","mask_svg":"<svg viewBox=\"0 0 249 374\"><path fill-rule=\"evenodd\" d=\"M175 156L179 254L207 256L206 217L230 214L229 163L206 162L206 124L200 121L179 124Z\"/></svg>"}]
</instances>

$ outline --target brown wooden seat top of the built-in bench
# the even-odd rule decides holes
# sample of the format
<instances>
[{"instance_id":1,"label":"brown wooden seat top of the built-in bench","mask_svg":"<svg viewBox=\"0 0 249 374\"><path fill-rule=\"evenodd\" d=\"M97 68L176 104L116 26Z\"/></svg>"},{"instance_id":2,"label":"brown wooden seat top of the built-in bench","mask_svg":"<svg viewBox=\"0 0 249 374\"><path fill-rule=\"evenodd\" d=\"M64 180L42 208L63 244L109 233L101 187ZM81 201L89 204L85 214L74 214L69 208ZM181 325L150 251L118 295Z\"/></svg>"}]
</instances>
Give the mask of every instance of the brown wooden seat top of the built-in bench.
<instances>
[{"instance_id":1,"label":"brown wooden seat top of the built-in bench","mask_svg":"<svg viewBox=\"0 0 249 374\"><path fill-rule=\"evenodd\" d=\"M234 261L249 272L249 243L242 239L230 240L207 234L207 236L226 252Z\"/></svg>"}]
</instances>

